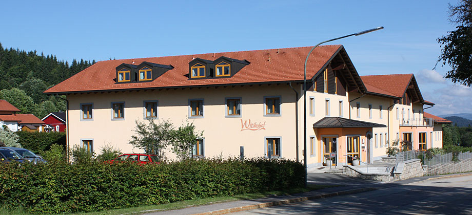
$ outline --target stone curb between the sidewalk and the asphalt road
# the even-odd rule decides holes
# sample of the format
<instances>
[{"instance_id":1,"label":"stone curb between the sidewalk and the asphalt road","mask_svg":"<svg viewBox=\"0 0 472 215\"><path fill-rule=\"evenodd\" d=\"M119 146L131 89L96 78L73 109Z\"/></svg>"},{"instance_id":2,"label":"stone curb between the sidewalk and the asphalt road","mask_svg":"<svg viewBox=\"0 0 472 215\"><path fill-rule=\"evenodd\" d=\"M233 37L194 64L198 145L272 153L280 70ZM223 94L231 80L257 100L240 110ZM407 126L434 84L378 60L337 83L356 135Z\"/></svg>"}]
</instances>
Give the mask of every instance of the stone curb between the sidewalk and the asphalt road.
<instances>
[{"instance_id":1,"label":"stone curb between the sidewalk and the asphalt road","mask_svg":"<svg viewBox=\"0 0 472 215\"><path fill-rule=\"evenodd\" d=\"M245 210L253 210L253 209L264 208L264 207L272 207L272 206L277 206L277 205L303 202L303 201L313 200L313 199L321 199L321 198L328 198L328 197L335 197L335 196L342 196L342 195L350 195L350 194L355 194L355 193L360 193L360 192L367 192L367 191L372 191L372 190L377 190L377 189L379 189L379 188L377 188L377 187L364 187L364 188L357 188L357 189L349 189L349 190L343 190L343 191L338 191L338 192L329 192L329 193L324 193L324 194L318 194L318 195L308 196L308 197L298 197L298 198L285 199L285 200L272 201L272 202L265 202L265 203L259 203L259 204L253 204L253 205L245 205L245 206L241 206L241 207L233 207L233 208L227 208L227 209L221 209L221 210L213 210L213 211L208 211L208 212L203 212L203 213L194 213L193 215L220 215L220 214L234 213L234 212L240 212L240 211L245 211Z\"/></svg>"}]
</instances>

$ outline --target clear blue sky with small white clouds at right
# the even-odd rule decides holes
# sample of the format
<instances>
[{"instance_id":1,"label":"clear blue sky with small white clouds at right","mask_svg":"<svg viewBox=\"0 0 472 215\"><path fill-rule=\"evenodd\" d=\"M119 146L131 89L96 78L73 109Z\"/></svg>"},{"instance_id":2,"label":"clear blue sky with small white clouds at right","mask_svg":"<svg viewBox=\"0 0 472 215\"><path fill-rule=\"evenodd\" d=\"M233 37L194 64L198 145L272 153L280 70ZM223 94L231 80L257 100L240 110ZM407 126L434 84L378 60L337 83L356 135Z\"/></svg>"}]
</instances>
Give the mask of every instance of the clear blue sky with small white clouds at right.
<instances>
[{"instance_id":1,"label":"clear blue sky with small white clouds at right","mask_svg":"<svg viewBox=\"0 0 472 215\"><path fill-rule=\"evenodd\" d=\"M456 4L456 1L451 1ZM432 114L472 113L472 89L432 71L447 1L8 1L4 47L107 60L342 44L360 75L414 73Z\"/></svg>"}]
</instances>

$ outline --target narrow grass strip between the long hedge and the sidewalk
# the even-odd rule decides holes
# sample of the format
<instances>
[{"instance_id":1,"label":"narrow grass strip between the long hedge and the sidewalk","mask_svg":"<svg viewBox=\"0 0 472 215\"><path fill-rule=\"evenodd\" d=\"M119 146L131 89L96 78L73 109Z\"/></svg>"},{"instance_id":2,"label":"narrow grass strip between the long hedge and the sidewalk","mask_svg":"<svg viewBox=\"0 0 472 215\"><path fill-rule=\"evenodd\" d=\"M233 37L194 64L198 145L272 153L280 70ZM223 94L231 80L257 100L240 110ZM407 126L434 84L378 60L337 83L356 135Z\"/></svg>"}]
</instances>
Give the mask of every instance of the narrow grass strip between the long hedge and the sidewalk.
<instances>
[{"instance_id":1,"label":"narrow grass strip between the long hedge and the sidewalk","mask_svg":"<svg viewBox=\"0 0 472 215\"><path fill-rule=\"evenodd\" d=\"M172 202L169 204L162 204L162 205L146 205L146 206L139 206L139 207L130 207L130 208L123 208L123 209L113 209L113 210L104 210L104 211L97 211L97 212L81 212L81 213L70 213L73 215L119 215L119 214L143 214L146 212L153 212L156 210L172 210L172 209L179 209L184 207L192 207L196 205L206 205L218 202L226 202L226 201L237 201L237 200L245 200L245 199L258 199L263 198L270 195L289 195L293 193L300 193L300 192L307 192L311 190L323 189L327 187L333 187L336 185L308 185L307 188L294 188L289 190L283 191L272 191L272 192L262 192L262 193L246 193L242 195L232 196L232 197L213 197L213 198L206 198L206 199L195 199L195 200L186 200L181 202ZM0 209L0 214L10 214L10 215L31 215L31 213L27 213L24 211L10 211L5 209Z\"/></svg>"}]
</instances>

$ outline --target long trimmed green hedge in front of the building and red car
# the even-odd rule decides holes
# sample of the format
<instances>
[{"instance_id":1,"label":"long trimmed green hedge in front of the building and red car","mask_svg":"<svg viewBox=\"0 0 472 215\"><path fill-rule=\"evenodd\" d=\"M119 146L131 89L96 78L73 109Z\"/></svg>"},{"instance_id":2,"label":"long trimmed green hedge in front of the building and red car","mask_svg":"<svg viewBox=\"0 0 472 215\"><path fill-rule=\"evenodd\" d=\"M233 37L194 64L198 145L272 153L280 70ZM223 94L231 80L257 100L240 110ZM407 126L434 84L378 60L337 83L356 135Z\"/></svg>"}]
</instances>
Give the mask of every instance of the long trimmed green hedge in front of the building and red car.
<instances>
[{"instance_id":1,"label":"long trimmed green hedge in front of the building and red car","mask_svg":"<svg viewBox=\"0 0 472 215\"><path fill-rule=\"evenodd\" d=\"M100 211L296 188L303 174L302 164L283 159L0 164L0 199L38 214Z\"/></svg>"}]
</instances>

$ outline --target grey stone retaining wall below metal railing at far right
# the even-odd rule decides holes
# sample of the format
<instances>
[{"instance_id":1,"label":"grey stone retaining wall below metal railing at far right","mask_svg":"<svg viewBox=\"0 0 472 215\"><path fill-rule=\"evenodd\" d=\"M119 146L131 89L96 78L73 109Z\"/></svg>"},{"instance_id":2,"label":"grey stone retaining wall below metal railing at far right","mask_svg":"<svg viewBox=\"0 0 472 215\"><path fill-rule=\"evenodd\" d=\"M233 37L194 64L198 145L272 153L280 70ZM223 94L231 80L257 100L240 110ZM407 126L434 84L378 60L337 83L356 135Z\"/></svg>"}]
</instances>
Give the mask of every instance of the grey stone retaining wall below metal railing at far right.
<instances>
[{"instance_id":1,"label":"grey stone retaining wall below metal railing at far right","mask_svg":"<svg viewBox=\"0 0 472 215\"><path fill-rule=\"evenodd\" d=\"M459 162L450 161L445 164L437 164L426 167L425 174L428 176L436 176L441 174L464 173L472 171L472 159L465 159Z\"/></svg>"}]
</instances>

